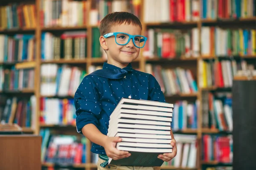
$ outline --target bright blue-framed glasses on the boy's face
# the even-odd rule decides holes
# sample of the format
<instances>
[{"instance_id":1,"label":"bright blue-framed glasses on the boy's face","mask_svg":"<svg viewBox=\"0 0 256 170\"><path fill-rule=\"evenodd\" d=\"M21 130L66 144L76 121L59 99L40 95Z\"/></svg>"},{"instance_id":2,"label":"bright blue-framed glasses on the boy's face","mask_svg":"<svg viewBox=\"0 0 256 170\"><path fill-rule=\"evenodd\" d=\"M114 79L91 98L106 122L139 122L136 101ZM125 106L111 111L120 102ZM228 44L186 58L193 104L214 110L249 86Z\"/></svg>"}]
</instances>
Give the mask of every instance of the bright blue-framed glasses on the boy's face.
<instances>
[{"instance_id":1,"label":"bright blue-framed glasses on the boy's face","mask_svg":"<svg viewBox=\"0 0 256 170\"><path fill-rule=\"evenodd\" d=\"M124 32L112 32L103 35L103 37L108 38L113 35L115 36L116 44L126 45L132 39L132 42L137 48L143 48L147 40L147 37L144 37L142 35L130 35Z\"/></svg>"}]
</instances>

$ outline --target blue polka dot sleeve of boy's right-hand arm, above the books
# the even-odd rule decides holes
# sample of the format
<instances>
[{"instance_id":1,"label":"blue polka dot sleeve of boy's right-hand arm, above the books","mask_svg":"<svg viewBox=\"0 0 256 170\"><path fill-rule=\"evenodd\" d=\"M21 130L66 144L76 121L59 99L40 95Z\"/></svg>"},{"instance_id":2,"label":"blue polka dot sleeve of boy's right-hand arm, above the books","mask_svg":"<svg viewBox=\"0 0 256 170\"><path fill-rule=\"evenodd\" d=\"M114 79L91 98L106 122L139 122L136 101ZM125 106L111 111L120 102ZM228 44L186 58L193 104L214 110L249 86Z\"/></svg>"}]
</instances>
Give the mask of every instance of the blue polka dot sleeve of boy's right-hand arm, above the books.
<instances>
[{"instance_id":1,"label":"blue polka dot sleeve of boy's right-hand arm, above the books","mask_svg":"<svg viewBox=\"0 0 256 170\"><path fill-rule=\"evenodd\" d=\"M150 74L148 80L148 100L166 102L165 97L163 95L163 91L161 91L161 87L157 82L157 79L152 74Z\"/></svg>"}]
</instances>

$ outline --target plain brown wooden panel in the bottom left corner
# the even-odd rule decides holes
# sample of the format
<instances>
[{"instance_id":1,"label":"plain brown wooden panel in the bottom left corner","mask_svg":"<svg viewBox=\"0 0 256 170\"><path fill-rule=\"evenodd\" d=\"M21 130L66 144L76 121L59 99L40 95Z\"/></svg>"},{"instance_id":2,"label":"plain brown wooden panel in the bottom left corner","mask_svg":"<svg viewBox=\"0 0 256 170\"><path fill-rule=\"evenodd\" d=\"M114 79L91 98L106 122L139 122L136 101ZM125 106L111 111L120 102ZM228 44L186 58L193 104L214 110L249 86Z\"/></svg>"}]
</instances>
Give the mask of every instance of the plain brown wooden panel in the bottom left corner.
<instances>
[{"instance_id":1,"label":"plain brown wooden panel in the bottom left corner","mask_svg":"<svg viewBox=\"0 0 256 170\"><path fill-rule=\"evenodd\" d=\"M41 136L0 135L1 170L41 170Z\"/></svg>"}]
</instances>

